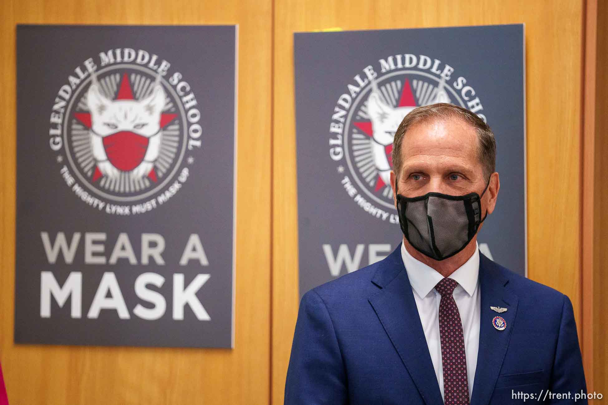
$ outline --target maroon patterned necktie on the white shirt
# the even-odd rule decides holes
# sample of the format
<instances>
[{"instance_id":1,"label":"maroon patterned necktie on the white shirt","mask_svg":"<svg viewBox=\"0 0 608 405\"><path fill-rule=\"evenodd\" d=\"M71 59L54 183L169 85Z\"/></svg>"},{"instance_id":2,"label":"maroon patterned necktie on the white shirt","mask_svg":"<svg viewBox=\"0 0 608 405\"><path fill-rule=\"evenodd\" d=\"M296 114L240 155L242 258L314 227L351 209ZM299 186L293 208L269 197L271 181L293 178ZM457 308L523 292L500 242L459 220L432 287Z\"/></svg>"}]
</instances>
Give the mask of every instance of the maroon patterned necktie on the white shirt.
<instances>
[{"instance_id":1,"label":"maroon patterned necktie on the white shirt","mask_svg":"<svg viewBox=\"0 0 608 405\"><path fill-rule=\"evenodd\" d=\"M465 335L456 301L454 279L444 278L435 285L441 294L439 303L439 335L443 363L443 398L447 405L468 405L469 385L466 378Z\"/></svg>"}]
</instances>

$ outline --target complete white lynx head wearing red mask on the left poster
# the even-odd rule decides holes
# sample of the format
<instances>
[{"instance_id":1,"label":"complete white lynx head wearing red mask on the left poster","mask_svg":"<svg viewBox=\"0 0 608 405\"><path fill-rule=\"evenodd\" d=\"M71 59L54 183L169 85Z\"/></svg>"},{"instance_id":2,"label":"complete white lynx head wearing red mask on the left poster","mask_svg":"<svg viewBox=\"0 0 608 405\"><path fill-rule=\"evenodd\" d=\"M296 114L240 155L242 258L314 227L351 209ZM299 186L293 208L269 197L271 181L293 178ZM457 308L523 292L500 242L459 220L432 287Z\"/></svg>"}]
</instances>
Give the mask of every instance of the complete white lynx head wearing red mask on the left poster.
<instances>
[{"instance_id":1,"label":"complete white lynx head wearing red mask on the left poster","mask_svg":"<svg viewBox=\"0 0 608 405\"><path fill-rule=\"evenodd\" d=\"M102 94L93 75L86 103L91 111L89 134L98 171L108 179L117 179L120 172L126 172L130 179L150 175L155 180L153 169L161 146L161 114L165 107L159 77L152 93L142 100L110 100Z\"/></svg>"}]
</instances>

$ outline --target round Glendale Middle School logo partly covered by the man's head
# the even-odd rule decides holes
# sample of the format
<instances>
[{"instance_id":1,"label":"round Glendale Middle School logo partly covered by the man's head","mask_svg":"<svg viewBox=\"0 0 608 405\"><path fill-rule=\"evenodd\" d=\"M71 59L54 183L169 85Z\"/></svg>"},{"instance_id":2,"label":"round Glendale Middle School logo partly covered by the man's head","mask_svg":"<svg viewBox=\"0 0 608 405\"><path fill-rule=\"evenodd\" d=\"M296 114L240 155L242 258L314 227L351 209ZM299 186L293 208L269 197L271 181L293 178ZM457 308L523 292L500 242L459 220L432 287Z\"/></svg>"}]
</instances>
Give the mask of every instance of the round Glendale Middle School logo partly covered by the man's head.
<instances>
[{"instance_id":1,"label":"round Glendale Middle School logo partly covered by the man's head","mask_svg":"<svg viewBox=\"0 0 608 405\"><path fill-rule=\"evenodd\" d=\"M403 56L403 58L402 58ZM330 157L338 163L342 186L367 213L398 223L390 187L393 138L403 118L418 106L452 103L479 112L478 97L454 69L424 55L396 55L356 75L334 108ZM452 79L452 80L450 80ZM453 83L451 83L451 81ZM465 89L463 92L461 90ZM485 115L479 114L485 120Z\"/></svg>"}]
</instances>

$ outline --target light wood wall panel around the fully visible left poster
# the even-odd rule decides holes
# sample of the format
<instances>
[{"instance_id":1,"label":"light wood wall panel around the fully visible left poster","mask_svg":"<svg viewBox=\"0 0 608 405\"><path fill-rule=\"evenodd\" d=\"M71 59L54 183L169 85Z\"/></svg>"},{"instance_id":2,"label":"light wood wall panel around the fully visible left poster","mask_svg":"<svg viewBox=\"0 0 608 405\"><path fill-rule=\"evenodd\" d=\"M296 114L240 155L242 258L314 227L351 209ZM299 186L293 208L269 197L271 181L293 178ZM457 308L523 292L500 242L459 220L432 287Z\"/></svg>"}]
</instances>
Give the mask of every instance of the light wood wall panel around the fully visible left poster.
<instances>
[{"instance_id":1,"label":"light wood wall panel around the fully visible left poster","mask_svg":"<svg viewBox=\"0 0 608 405\"><path fill-rule=\"evenodd\" d=\"M0 362L10 404L268 404L271 1L2 0L0 4ZM247 198L237 202L233 350L13 344L15 24L19 23L240 25L237 194ZM61 44L57 46L61 51Z\"/></svg>"}]
</instances>

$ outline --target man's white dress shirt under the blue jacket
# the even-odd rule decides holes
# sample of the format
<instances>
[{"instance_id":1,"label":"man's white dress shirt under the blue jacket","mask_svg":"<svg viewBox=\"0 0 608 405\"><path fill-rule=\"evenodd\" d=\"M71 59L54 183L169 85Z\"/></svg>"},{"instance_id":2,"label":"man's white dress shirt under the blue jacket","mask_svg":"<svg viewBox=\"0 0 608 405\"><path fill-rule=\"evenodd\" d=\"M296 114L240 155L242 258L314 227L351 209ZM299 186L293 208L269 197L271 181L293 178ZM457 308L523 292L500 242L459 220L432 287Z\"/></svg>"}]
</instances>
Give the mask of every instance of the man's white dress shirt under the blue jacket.
<instances>
[{"instance_id":1,"label":"man's white dress shirt under the blue jacket","mask_svg":"<svg viewBox=\"0 0 608 405\"><path fill-rule=\"evenodd\" d=\"M429 346L430 358L435 367L435 375L443 395L443 363L441 362L441 340L439 336L439 303L441 295L435 285L443 279L440 273L415 259L401 244L401 257L406 267L407 277L412 285L418 315L424 330L424 337ZM454 301L460 313L462 330L465 335L466 374L469 383L469 399L473 392L477 352L479 350L479 247L475 242L475 253L465 264L459 267L449 278L458 282L454 290Z\"/></svg>"}]
</instances>

